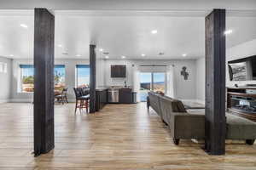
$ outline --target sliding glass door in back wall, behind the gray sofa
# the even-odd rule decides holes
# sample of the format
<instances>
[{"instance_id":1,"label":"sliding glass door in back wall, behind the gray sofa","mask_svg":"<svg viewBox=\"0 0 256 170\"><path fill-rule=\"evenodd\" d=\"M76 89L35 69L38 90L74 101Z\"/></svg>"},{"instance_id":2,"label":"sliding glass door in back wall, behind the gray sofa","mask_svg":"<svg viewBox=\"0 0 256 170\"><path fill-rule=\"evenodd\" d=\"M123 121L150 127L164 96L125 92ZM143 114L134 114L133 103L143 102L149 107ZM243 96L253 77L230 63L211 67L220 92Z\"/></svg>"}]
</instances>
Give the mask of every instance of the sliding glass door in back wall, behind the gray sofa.
<instances>
[{"instance_id":1,"label":"sliding glass door in back wall, behind the gray sofa","mask_svg":"<svg viewBox=\"0 0 256 170\"><path fill-rule=\"evenodd\" d=\"M166 73L165 72L141 72L140 74L140 100L147 101L148 92L165 93Z\"/></svg>"}]
</instances>

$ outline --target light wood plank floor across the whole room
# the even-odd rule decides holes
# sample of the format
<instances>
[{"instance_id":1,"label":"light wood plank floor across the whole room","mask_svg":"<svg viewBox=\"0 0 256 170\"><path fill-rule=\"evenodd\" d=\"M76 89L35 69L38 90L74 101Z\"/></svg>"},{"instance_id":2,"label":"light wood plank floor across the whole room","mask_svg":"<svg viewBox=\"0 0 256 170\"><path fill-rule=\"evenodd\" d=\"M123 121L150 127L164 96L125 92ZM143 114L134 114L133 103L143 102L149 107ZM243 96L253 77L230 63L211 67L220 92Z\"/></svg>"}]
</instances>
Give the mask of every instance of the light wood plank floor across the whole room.
<instances>
[{"instance_id":1,"label":"light wood plank floor across the whole room","mask_svg":"<svg viewBox=\"0 0 256 170\"><path fill-rule=\"evenodd\" d=\"M227 144L226 156L208 156L201 144L172 144L168 130L145 104L107 105L74 115L55 105L55 150L34 158L32 105L0 105L0 169L148 170L256 169L256 145Z\"/></svg>"}]
</instances>

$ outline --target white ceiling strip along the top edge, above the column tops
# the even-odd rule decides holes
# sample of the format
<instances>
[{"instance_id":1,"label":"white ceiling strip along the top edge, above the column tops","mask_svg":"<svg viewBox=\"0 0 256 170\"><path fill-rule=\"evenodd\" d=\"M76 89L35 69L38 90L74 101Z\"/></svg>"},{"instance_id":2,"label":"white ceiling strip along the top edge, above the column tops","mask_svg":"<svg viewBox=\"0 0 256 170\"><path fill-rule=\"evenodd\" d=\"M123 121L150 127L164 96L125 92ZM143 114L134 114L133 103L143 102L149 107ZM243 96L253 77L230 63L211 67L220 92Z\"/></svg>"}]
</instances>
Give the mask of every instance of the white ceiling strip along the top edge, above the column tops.
<instances>
[{"instance_id":1,"label":"white ceiling strip along the top edge, above the column tops","mask_svg":"<svg viewBox=\"0 0 256 170\"><path fill-rule=\"evenodd\" d=\"M22 3L21 3L22 2ZM1 0L1 9L55 10L212 10L256 9L255 0Z\"/></svg>"}]
</instances>

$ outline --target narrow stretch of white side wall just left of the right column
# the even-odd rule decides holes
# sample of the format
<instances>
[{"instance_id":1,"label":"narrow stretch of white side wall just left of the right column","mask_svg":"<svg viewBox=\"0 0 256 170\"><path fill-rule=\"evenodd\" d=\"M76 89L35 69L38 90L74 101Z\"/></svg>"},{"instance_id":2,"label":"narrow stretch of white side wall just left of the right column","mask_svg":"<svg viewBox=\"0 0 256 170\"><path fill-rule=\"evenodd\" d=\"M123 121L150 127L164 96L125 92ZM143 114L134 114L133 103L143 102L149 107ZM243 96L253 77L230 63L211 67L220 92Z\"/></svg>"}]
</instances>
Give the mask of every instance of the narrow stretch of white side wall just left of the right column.
<instances>
[{"instance_id":1,"label":"narrow stretch of white side wall just left of the right column","mask_svg":"<svg viewBox=\"0 0 256 170\"><path fill-rule=\"evenodd\" d=\"M196 100L205 103L206 59L196 59Z\"/></svg>"}]
</instances>

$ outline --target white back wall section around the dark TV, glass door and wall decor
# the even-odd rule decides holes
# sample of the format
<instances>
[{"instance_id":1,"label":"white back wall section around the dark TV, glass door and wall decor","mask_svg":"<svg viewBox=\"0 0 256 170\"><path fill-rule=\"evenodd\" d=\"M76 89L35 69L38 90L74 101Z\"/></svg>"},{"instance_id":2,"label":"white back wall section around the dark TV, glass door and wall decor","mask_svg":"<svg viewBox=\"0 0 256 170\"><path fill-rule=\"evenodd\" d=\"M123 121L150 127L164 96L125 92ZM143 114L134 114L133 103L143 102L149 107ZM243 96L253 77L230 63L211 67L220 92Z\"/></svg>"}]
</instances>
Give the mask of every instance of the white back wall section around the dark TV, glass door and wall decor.
<instances>
[{"instance_id":1,"label":"white back wall section around the dark TV, glass door and wall decor","mask_svg":"<svg viewBox=\"0 0 256 170\"><path fill-rule=\"evenodd\" d=\"M111 78L110 65L126 65L127 77L126 78ZM134 66L133 66L134 65ZM196 99L195 96L195 83L196 83L196 69L195 69L195 59L172 59L172 60L116 60L108 59L105 61L105 85L107 87L111 86L123 86L124 81L127 82L128 86L133 86L134 76L133 71L139 65L174 65L174 81L175 81L175 94L178 99ZM189 79L184 80L181 76L180 71L182 67L186 66L189 72ZM167 86L170 86L167 85ZM136 89L135 87L132 87Z\"/></svg>"}]
</instances>

